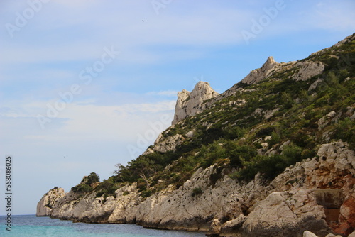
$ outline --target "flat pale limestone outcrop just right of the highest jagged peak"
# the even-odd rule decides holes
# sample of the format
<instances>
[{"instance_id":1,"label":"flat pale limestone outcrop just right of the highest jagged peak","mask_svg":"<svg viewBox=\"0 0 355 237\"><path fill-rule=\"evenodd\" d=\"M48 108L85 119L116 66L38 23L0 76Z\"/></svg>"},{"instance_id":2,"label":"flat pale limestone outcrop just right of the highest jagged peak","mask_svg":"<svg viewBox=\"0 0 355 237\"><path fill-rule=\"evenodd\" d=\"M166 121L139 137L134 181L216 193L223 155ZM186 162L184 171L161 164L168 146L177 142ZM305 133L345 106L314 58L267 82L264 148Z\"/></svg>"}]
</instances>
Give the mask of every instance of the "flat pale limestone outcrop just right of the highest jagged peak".
<instances>
[{"instance_id":1,"label":"flat pale limestone outcrop just right of the highest jagged peak","mask_svg":"<svg viewBox=\"0 0 355 237\"><path fill-rule=\"evenodd\" d=\"M300 67L297 74L293 75L293 79L296 82L306 81L324 71L324 64L322 62L297 62L296 65Z\"/></svg>"}]
</instances>

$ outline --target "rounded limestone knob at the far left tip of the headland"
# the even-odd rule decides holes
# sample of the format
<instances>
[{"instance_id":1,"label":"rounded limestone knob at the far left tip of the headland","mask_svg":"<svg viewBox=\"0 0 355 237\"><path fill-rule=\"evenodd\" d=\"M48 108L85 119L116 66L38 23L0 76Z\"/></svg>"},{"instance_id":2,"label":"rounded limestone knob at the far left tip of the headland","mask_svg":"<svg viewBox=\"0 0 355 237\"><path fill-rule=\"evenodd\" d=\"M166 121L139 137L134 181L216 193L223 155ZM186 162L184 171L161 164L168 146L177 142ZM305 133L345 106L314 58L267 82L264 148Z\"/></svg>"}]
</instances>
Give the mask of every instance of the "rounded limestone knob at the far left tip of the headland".
<instances>
[{"instance_id":1,"label":"rounded limestone knob at the far left tip of the headland","mask_svg":"<svg viewBox=\"0 0 355 237\"><path fill-rule=\"evenodd\" d=\"M43 195L40 202L37 204L36 216L50 216L53 211L53 206L57 204L58 200L64 197L64 189L54 188Z\"/></svg>"}]
</instances>

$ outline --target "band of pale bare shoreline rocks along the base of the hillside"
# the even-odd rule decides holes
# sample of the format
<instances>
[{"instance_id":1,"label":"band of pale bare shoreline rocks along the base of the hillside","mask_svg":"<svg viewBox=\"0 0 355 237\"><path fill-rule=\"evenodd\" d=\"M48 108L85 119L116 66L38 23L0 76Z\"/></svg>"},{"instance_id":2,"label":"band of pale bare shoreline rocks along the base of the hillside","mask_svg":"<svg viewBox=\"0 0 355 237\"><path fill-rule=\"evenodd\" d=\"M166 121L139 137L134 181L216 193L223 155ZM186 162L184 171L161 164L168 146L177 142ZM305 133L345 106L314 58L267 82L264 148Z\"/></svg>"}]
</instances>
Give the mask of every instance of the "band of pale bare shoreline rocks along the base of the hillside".
<instances>
[{"instance_id":1,"label":"band of pale bare shoreline rocks along the base of the hillside","mask_svg":"<svg viewBox=\"0 0 355 237\"><path fill-rule=\"evenodd\" d=\"M320 147L317 157L288 167L266 183L256 175L236 182L224 167L200 168L179 189L172 185L143 199L136 183L116 190L116 197L78 198L72 192L50 190L38 203L37 216L87 223L140 224L146 228L202 231L214 236L300 237L312 231L320 237L354 231L354 151L337 141ZM222 170L212 184L212 174ZM293 180L297 179L297 182ZM332 182L332 187L329 187ZM327 186L328 185L328 186ZM195 188L201 194L192 195ZM324 206L312 189L342 189L338 221L327 221ZM53 206L45 206L48 202Z\"/></svg>"}]
</instances>

